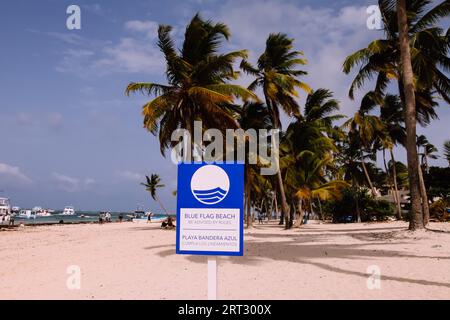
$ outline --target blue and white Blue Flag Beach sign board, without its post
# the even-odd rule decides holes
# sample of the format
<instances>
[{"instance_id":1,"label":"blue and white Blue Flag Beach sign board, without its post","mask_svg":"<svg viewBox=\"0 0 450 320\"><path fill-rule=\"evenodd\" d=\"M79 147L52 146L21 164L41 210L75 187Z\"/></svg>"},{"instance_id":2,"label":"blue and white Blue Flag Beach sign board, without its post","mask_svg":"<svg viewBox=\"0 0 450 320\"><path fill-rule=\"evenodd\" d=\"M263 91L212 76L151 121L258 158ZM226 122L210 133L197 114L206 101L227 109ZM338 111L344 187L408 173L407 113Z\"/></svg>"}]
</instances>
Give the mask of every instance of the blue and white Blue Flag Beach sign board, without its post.
<instances>
[{"instance_id":1,"label":"blue and white Blue Flag Beach sign board, without its post","mask_svg":"<svg viewBox=\"0 0 450 320\"><path fill-rule=\"evenodd\" d=\"M177 254L243 255L244 164L180 163Z\"/></svg>"}]
</instances>

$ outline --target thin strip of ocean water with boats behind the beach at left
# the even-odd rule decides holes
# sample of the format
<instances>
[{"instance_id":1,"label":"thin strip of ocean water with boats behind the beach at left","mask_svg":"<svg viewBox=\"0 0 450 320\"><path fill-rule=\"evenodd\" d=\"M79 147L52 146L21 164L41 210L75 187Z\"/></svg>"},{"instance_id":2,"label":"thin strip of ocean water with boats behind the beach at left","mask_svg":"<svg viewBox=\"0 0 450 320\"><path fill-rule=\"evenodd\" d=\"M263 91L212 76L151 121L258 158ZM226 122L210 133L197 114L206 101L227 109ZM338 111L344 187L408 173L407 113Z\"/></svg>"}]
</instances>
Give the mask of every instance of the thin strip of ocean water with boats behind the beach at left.
<instances>
[{"instance_id":1,"label":"thin strip of ocean water with boats behind the beach at left","mask_svg":"<svg viewBox=\"0 0 450 320\"><path fill-rule=\"evenodd\" d=\"M110 212L111 220L114 222L119 220L119 215L122 214L123 221L127 221L129 219L128 216L132 216L134 212ZM88 223L88 222L98 222L99 211L77 211L73 216L63 216L60 213L56 212L49 217L36 217L36 219L27 219L26 217L15 217L15 224L23 223L25 225L33 225L33 224L54 224L59 223L61 220L64 223ZM84 218L81 217L84 215ZM152 221L159 221L166 219L166 215L153 214ZM142 219L147 219L142 216Z\"/></svg>"}]
</instances>

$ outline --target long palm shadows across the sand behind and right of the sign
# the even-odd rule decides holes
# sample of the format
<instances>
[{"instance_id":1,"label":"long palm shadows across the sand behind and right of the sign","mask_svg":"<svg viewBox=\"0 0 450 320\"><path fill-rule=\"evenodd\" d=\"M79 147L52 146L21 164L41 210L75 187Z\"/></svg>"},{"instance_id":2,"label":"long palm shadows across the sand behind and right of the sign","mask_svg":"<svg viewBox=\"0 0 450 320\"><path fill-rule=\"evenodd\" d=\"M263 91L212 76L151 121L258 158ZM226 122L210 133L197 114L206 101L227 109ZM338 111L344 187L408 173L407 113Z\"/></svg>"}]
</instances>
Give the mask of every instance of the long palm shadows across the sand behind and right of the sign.
<instances>
[{"instance_id":1,"label":"long palm shadows across the sand behind and right of the sign","mask_svg":"<svg viewBox=\"0 0 450 320\"><path fill-rule=\"evenodd\" d=\"M395 228L390 228L393 230ZM349 260L373 260L373 258L414 258L414 259L437 259L437 260L449 260L448 256L418 256L413 254L407 254L396 250L381 250L381 249L370 249L364 248L372 245L398 245L398 244L408 244L406 241L395 241L388 243L386 241L377 241L380 239L364 239L369 240L368 242L361 244L335 244L335 243L323 243L329 240L326 232L324 234L311 234L308 233L309 229L304 229L305 233L291 233L280 236L280 234L267 234L267 233L250 233L247 234L245 246L244 246L244 256L243 257L221 257L224 260L233 264L246 264L246 265L261 265L264 264L267 259L275 261L286 261L298 264L308 264L315 266L317 268L338 273L338 274L348 274L353 276L362 277L367 279L369 276L365 272L358 272L349 269L339 268L333 266L332 264L327 264L324 262L318 262L317 259L349 259ZM365 230L372 231L373 229ZM345 230L347 236L352 236L351 231ZM349 234L350 233L350 234ZM389 232L387 232L389 233ZM380 233L378 233L380 234ZM354 234L353 234L354 235ZM340 236L340 235L339 235ZM344 236L344 235L343 235ZM277 237L278 241L269 241L266 239ZM279 241L280 237L284 241ZM253 239L251 239L253 238ZM285 241L287 239L287 241ZM322 243L317 243L322 242ZM164 249L165 250L159 250ZM150 246L147 247L148 250L157 250L155 254L161 257L168 257L175 255L175 245L165 245L165 246ZM205 263L205 256L192 256L186 255L185 259L194 263ZM429 280L420 279L410 279L404 277L395 277L382 275L382 279L398 281L404 283L419 284L425 286L440 286L450 288L450 283L436 282Z\"/></svg>"}]
</instances>

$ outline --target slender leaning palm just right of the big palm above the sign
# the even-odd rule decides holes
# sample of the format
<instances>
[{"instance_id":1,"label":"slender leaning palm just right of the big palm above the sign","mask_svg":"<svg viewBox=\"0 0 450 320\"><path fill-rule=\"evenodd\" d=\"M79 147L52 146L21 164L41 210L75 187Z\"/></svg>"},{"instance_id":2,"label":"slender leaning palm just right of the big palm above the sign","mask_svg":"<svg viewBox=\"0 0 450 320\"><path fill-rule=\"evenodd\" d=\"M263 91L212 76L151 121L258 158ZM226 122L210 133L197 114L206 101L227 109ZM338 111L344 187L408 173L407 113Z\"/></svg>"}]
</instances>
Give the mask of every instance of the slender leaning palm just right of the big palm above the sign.
<instances>
[{"instance_id":1,"label":"slender leaning palm just right of the big palm above the sign","mask_svg":"<svg viewBox=\"0 0 450 320\"><path fill-rule=\"evenodd\" d=\"M297 66L305 65L301 51L293 50L293 39L285 34L270 34L266 41L266 49L258 58L257 66L252 66L243 59L241 68L256 79L250 84L249 90L263 89L266 105L271 111L273 123L276 128L281 128L280 108L288 115L299 115L299 105L295 101L298 96L297 88L310 92L310 88L298 80L299 76L306 75ZM281 196L282 218L286 219L286 228L290 228L288 218L288 205L284 191L281 170L278 170L278 187Z\"/></svg>"}]
</instances>

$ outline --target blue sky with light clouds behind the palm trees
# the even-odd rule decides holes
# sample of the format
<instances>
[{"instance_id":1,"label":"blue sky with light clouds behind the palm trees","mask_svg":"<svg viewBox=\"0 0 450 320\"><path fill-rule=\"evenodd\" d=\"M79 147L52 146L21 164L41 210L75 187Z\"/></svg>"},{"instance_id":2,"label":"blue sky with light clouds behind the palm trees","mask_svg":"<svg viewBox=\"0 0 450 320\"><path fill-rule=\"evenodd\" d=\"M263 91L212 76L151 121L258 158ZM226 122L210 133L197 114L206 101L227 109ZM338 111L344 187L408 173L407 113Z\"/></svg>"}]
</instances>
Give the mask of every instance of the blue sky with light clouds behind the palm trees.
<instances>
[{"instance_id":1,"label":"blue sky with light clouds behind the palm trees","mask_svg":"<svg viewBox=\"0 0 450 320\"><path fill-rule=\"evenodd\" d=\"M164 83L156 47L158 24L174 26L180 40L196 13L225 22L231 41L255 60L270 32L286 32L309 61L304 81L329 88L351 115L352 80L341 72L346 55L381 36L366 28L375 1L5 1L0 10L0 197L22 207L159 212L139 186L158 173L161 198L175 209L176 167L142 128L145 97L125 97L131 81ZM66 8L77 4L82 29L66 28ZM249 83L248 77L239 80ZM369 88L369 86L368 86ZM362 91L363 92L363 91ZM359 96L360 97L360 96ZM302 99L301 99L302 101ZM441 148L450 138L448 105L425 130ZM397 156L404 160L404 151ZM445 165L441 158L433 165Z\"/></svg>"}]
</instances>

